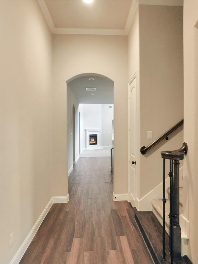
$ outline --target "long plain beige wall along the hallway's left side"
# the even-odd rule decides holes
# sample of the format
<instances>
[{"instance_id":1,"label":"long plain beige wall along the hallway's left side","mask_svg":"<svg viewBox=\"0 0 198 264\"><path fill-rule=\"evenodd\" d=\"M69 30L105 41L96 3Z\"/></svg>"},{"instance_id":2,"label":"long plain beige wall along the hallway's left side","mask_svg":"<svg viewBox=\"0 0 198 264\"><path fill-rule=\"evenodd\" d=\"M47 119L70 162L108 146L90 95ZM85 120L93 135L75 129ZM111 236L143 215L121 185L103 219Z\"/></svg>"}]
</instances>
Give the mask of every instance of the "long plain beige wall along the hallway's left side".
<instances>
[{"instance_id":1,"label":"long plain beige wall along the hallway's left side","mask_svg":"<svg viewBox=\"0 0 198 264\"><path fill-rule=\"evenodd\" d=\"M52 35L38 2L1 1L1 263L51 198L51 76Z\"/></svg>"}]
</instances>

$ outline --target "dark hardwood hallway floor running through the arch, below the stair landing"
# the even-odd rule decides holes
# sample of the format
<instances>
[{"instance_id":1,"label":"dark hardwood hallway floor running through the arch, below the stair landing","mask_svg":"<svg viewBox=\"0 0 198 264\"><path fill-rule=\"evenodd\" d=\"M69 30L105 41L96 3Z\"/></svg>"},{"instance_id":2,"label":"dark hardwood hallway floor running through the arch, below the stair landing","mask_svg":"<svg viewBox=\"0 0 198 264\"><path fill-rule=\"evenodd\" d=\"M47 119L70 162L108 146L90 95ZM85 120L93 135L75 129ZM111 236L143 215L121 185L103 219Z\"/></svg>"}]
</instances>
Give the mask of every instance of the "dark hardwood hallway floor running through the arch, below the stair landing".
<instances>
[{"instance_id":1,"label":"dark hardwood hallway floor running through the arch, below the stair landing","mask_svg":"<svg viewBox=\"0 0 198 264\"><path fill-rule=\"evenodd\" d=\"M69 202L53 204L20 263L153 264L127 201L113 201L110 157L80 158Z\"/></svg>"}]
</instances>

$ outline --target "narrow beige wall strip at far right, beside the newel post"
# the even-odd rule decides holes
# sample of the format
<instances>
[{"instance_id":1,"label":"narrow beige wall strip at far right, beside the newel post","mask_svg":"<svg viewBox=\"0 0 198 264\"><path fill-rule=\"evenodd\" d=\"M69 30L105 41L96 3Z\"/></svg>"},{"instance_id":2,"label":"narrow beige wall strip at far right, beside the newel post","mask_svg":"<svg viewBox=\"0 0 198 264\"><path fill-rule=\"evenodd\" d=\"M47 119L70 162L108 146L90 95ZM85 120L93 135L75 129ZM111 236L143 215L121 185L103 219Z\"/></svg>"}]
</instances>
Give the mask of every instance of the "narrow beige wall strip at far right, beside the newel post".
<instances>
[{"instance_id":1,"label":"narrow beige wall strip at far right, beside the newel post","mask_svg":"<svg viewBox=\"0 0 198 264\"><path fill-rule=\"evenodd\" d=\"M198 2L184 1L184 160L183 215L189 220L188 257L198 263Z\"/></svg>"}]
</instances>

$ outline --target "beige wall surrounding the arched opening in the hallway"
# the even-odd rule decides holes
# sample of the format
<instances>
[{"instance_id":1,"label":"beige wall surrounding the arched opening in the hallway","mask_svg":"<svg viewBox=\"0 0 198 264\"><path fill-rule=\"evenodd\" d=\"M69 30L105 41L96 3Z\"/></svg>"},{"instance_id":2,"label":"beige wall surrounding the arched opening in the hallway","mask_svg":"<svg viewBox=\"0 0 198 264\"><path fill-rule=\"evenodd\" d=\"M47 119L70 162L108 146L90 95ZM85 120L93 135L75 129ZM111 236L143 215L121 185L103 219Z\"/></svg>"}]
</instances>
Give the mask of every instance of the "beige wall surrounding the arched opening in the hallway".
<instances>
[{"instance_id":1,"label":"beige wall surrounding the arched opening in the hallway","mask_svg":"<svg viewBox=\"0 0 198 264\"><path fill-rule=\"evenodd\" d=\"M53 35L53 193L67 195L65 82L84 73L114 81L114 193L127 193L127 37L97 35Z\"/></svg>"}]
</instances>

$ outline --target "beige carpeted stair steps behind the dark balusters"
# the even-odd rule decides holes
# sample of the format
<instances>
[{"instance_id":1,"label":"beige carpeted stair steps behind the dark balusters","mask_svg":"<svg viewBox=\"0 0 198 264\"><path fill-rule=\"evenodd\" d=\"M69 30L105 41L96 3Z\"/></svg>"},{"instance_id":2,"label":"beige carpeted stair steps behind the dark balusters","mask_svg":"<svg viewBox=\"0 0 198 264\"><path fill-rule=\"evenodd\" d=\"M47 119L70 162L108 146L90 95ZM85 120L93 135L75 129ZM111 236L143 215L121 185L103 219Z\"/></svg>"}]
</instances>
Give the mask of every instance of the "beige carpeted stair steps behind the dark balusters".
<instances>
[{"instance_id":1,"label":"beige carpeted stair steps behind the dark balusters","mask_svg":"<svg viewBox=\"0 0 198 264\"><path fill-rule=\"evenodd\" d=\"M169 212L170 212L170 188L167 188L168 199L166 200L165 206L165 230L169 234ZM182 206L183 206L183 187L179 187L179 215L182 214ZM158 221L163 225L163 201L162 199L153 199L152 200L152 211L156 216Z\"/></svg>"}]
</instances>

